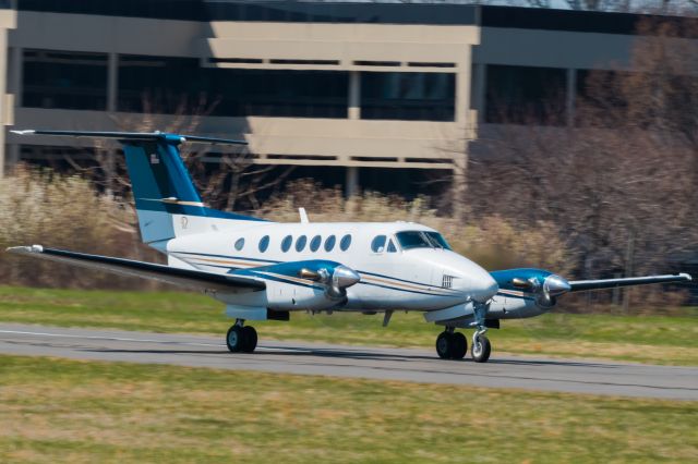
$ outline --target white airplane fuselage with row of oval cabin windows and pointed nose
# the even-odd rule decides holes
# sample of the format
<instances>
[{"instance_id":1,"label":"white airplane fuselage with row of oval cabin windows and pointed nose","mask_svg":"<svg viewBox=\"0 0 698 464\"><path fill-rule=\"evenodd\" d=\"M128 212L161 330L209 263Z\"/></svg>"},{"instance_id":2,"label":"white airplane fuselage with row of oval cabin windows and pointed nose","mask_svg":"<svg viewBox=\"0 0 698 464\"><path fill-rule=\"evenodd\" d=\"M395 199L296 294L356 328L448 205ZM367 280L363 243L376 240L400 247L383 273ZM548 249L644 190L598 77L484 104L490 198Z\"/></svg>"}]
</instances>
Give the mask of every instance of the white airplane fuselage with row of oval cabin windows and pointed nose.
<instances>
[{"instance_id":1,"label":"white airplane fuselage with row of oval cabin windows and pointed nose","mask_svg":"<svg viewBox=\"0 0 698 464\"><path fill-rule=\"evenodd\" d=\"M282 262L329 260L351 268L361 280L347 289L340 307L323 307L317 300L322 290L312 288L312 282L258 273L255 277L265 280L267 291L216 295L228 305L282 310L434 310L467 302L485 303L497 291L488 271L457 253L400 244L396 234L402 231L436 233L421 224L233 222L234 227L220 223L212 225L217 230L197 229L169 241L170 266L229 273Z\"/></svg>"}]
</instances>

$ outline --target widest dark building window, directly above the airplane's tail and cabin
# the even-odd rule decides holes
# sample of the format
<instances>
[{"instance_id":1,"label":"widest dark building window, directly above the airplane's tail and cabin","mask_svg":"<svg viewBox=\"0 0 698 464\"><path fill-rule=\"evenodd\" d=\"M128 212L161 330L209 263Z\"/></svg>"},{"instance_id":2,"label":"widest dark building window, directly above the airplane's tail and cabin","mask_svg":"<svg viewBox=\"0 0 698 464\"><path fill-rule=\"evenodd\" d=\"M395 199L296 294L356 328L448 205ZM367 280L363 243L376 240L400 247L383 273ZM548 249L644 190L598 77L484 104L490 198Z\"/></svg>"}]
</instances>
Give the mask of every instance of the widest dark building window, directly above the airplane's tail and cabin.
<instances>
[{"instance_id":1,"label":"widest dark building window, directly above the airplane's tail and cabin","mask_svg":"<svg viewBox=\"0 0 698 464\"><path fill-rule=\"evenodd\" d=\"M119 57L119 111L347 118L349 74L202 68L193 58Z\"/></svg>"}]
</instances>

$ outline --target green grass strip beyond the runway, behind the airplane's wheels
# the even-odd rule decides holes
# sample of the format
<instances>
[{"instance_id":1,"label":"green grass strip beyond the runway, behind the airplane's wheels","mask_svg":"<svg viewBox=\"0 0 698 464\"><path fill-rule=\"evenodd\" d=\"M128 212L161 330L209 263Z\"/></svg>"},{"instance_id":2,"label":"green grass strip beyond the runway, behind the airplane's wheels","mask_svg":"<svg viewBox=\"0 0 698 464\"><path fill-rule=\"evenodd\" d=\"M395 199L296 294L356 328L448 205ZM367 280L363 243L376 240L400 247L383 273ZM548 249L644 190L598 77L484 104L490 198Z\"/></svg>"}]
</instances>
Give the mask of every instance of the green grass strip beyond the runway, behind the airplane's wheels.
<instances>
[{"instance_id":1,"label":"green grass strip beyond the runway, behind the airplane's wheels","mask_svg":"<svg viewBox=\"0 0 698 464\"><path fill-rule=\"evenodd\" d=\"M433 347L440 331L420 314L382 316L293 314L290 322L255 322L263 339ZM222 304L179 292L110 292L0 286L0 321L222 338L230 320ZM491 330L496 353L597 357L654 364L698 365L698 308L674 316L549 314L503 321Z\"/></svg>"}]
</instances>

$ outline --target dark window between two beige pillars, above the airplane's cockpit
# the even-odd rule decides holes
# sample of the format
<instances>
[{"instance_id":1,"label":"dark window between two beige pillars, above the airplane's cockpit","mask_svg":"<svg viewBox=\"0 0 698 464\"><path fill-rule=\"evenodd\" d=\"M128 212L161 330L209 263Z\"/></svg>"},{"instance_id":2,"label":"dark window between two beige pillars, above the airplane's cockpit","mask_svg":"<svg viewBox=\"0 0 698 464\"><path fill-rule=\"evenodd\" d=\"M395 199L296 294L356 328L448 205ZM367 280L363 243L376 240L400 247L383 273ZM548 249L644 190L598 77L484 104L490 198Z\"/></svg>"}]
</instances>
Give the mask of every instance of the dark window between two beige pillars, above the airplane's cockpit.
<instances>
[{"instance_id":1,"label":"dark window between two beige pillars, above the airplane's cockpit","mask_svg":"<svg viewBox=\"0 0 698 464\"><path fill-rule=\"evenodd\" d=\"M454 121L454 73L361 73L361 118Z\"/></svg>"}]
</instances>

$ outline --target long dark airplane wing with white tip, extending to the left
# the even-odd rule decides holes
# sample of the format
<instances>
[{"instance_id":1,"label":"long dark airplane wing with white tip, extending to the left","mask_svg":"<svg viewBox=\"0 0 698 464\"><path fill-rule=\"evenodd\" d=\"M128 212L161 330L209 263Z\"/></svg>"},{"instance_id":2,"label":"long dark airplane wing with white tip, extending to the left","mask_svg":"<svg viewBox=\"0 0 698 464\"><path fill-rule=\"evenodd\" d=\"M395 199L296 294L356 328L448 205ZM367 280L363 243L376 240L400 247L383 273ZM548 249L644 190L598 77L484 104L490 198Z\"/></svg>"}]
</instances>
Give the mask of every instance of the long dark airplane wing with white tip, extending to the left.
<instances>
[{"instance_id":1,"label":"long dark airplane wing with white tip, extending to the left","mask_svg":"<svg viewBox=\"0 0 698 464\"><path fill-rule=\"evenodd\" d=\"M153 279L165 283L185 286L194 290L214 290L229 293L251 292L266 289L263 281L252 277L229 276L191 269L179 269L153 262L135 261L132 259L113 258L109 256L88 255L85 253L68 252L64 249L45 248L40 245L14 246L7 249L10 253L29 255L52 261L98 269L122 276Z\"/></svg>"}]
</instances>

